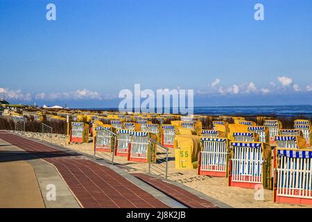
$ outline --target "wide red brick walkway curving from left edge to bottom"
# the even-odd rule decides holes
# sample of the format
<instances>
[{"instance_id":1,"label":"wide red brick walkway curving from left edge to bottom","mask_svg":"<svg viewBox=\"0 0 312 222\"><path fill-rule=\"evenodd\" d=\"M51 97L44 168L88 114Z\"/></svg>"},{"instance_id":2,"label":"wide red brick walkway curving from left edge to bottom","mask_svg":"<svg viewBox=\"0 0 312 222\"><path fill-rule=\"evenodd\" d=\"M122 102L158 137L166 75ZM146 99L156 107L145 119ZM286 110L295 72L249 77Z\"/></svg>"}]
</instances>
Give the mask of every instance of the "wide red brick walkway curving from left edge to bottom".
<instances>
[{"instance_id":1,"label":"wide red brick walkway curving from left edge to bottom","mask_svg":"<svg viewBox=\"0 0 312 222\"><path fill-rule=\"evenodd\" d=\"M10 133L0 139L53 164L83 207L168 207L108 167Z\"/></svg>"}]
</instances>

